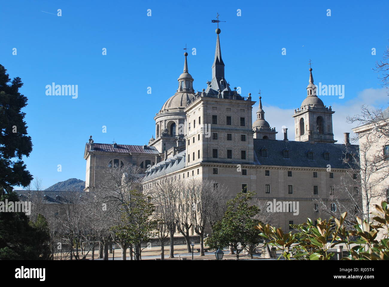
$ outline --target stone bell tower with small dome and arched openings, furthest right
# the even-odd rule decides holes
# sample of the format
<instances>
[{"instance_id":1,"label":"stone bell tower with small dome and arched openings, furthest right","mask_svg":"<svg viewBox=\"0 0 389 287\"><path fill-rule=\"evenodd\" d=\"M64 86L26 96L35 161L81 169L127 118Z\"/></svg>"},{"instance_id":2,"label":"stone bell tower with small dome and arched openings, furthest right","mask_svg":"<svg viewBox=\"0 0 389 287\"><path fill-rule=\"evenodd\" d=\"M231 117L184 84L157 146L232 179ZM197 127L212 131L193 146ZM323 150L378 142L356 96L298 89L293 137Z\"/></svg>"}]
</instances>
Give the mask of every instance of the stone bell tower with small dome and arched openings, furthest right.
<instances>
[{"instance_id":1,"label":"stone bell tower with small dome and arched openings, furthest right","mask_svg":"<svg viewBox=\"0 0 389 287\"><path fill-rule=\"evenodd\" d=\"M332 114L335 112L316 95L317 86L314 84L312 68L309 68L309 72L307 97L292 115L296 131L294 139L299 142L335 143L337 141L334 140L332 129Z\"/></svg>"}]
</instances>

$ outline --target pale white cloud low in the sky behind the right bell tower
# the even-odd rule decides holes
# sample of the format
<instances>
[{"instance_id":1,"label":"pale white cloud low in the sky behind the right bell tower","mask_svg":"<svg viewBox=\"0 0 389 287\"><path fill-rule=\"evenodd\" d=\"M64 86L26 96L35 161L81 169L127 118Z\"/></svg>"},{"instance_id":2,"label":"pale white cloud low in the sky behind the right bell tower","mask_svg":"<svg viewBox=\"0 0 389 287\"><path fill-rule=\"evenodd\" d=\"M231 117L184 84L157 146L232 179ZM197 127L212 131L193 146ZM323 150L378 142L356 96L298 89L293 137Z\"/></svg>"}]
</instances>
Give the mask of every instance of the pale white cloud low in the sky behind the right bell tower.
<instances>
[{"instance_id":1,"label":"pale white cloud low in the sky behind the right bell tower","mask_svg":"<svg viewBox=\"0 0 389 287\"><path fill-rule=\"evenodd\" d=\"M301 101L302 100L303 99L301 99ZM335 111L332 116L333 133L335 140L338 141L338 144L343 144L343 133L350 133L350 137L354 135L351 129L355 128L356 124L347 123L347 116L358 114L361 111L362 105L368 105L371 108L386 108L389 105L388 102L389 96L385 89L370 88L359 92L357 97L352 100L344 101L344 103L341 103L340 101L333 103L331 105L332 110ZM257 117L257 109L258 102L252 109L252 118L254 121ZM263 105L263 110L265 111L266 121L269 122L272 128L275 127L276 131L278 131L276 136L277 140L284 139L282 126L286 126L288 128L289 140L294 140L294 119L292 117L294 114L294 108L283 109L275 106Z\"/></svg>"}]
</instances>

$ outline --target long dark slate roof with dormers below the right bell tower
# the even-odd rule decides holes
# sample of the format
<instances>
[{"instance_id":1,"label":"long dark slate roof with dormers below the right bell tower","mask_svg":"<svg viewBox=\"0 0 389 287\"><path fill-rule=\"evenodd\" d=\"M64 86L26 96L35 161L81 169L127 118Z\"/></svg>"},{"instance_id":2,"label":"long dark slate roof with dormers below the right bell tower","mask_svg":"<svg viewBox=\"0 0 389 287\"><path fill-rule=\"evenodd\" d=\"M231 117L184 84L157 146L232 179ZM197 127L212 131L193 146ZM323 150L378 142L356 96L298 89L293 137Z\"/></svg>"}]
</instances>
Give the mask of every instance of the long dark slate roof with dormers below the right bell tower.
<instances>
[{"instance_id":1,"label":"long dark slate roof with dormers below the right bell tower","mask_svg":"<svg viewBox=\"0 0 389 287\"><path fill-rule=\"evenodd\" d=\"M267 149L267 158L261 157L261 149ZM296 166L326 168L347 168L343 163L346 146L343 144L310 144L284 140L265 140L254 138L254 151L260 165ZM358 145L350 145L350 150L357 151ZM284 150L289 151L289 159L284 158ZM314 152L314 160L308 159L308 152ZM324 160L324 153L329 153L329 161Z\"/></svg>"}]
</instances>

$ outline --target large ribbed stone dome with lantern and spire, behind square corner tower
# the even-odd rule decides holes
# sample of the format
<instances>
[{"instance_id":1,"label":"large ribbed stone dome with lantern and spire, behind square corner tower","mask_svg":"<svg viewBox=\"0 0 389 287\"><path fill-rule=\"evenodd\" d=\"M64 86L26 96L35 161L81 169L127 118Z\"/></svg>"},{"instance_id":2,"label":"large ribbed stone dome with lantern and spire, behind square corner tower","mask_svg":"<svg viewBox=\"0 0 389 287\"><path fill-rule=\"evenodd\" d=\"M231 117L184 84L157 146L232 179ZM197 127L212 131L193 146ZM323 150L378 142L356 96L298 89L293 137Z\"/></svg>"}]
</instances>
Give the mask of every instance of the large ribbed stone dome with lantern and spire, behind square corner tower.
<instances>
[{"instance_id":1,"label":"large ribbed stone dome with lantern and spire, behind square corner tower","mask_svg":"<svg viewBox=\"0 0 389 287\"><path fill-rule=\"evenodd\" d=\"M184 108L188 105L188 101L195 98L193 77L188 72L187 55L188 53L185 52L184 71L177 79L176 93L163 104L154 117L155 140L151 146L156 147L159 152L185 144L186 113Z\"/></svg>"}]
</instances>

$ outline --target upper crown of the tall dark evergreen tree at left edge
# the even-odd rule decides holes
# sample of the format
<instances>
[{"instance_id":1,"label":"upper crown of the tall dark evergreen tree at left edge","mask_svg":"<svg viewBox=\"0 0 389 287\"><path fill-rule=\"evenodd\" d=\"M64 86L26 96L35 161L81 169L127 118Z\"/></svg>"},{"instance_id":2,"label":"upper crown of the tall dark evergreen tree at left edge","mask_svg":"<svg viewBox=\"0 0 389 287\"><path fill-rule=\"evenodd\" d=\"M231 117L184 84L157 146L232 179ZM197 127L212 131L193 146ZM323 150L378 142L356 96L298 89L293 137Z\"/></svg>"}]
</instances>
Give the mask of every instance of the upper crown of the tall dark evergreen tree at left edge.
<instances>
[{"instance_id":1,"label":"upper crown of the tall dark evergreen tree at left edge","mask_svg":"<svg viewBox=\"0 0 389 287\"><path fill-rule=\"evenodd\" d=\"M25 113L27 97L19 93L23 86L19 77L12 81L0 65L0 194L12 190L12 186L27 186L32 175L26 170L23 156L32 151L31 137L27 136Z\"/></svg>"}]
</instances>

